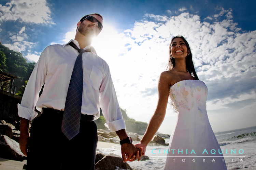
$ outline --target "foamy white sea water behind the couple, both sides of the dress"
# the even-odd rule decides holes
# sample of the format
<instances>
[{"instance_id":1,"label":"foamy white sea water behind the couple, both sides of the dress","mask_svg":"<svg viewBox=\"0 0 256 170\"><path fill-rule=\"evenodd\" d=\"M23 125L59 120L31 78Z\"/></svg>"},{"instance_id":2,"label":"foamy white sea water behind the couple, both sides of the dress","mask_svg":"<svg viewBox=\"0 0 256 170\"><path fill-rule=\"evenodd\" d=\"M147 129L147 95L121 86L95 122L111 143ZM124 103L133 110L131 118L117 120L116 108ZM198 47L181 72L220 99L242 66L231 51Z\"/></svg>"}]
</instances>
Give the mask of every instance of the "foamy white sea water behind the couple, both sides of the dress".
<instances>
[{"instance_id":1,"label":"foamy white sea water behind the couple, both sides of the dress","mask_svg":"<svg viewBox=\"0 0 256 170\"><path fill-rule=\"evenodd\" d=\"M232 131L217 132L215 136L221 147L227 168L256 170L256 126L244 129L237 129ZM165 139L169 142L169 139ZM134 144L138 143L136 141ZM103 154L114 153L121 155L120 146L113 146L112 148L98 148L99 152ZM148 145L145 155L150 159L144 161L128 162L130 167L134 170L159 170L165 165L166 151L168 146L153 146ZM211 151L208 151L209 153ZM217 153L218 151L216 151ZM153 154L154 153L154 154ZM214 151L212 151L214 153ZM156 157L157 155L157 157ZM196 158L196 161L202 161L202 158Z\"/></svg>"}]
</instances>

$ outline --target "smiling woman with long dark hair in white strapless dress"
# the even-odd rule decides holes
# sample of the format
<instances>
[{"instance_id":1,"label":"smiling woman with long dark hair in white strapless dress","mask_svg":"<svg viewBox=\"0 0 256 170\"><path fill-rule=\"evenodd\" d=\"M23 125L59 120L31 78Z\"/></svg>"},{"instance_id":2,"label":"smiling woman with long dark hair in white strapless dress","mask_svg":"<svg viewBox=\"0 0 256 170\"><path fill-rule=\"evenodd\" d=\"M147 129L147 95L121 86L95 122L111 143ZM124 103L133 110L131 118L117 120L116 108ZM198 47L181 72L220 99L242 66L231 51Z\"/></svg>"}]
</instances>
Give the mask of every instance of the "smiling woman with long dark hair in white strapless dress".
<instances>
[{"instance_id":1,"label":"smiling woman with long dark hair in white strapless dress","mask_svg":"<svg viewBox=\"0 0 256 170\"><path fill-rule=\"evenodd\" d=\"M162 72L158 81L156 111L136 147L143 147L145 154L146 146L165 117L170 96L178 115L164 169L226 170L222 151L206 112L208 89L197 77L192 54L184 37L172 38L169 56L168 71Z\"/></svg>"}]
</instances>

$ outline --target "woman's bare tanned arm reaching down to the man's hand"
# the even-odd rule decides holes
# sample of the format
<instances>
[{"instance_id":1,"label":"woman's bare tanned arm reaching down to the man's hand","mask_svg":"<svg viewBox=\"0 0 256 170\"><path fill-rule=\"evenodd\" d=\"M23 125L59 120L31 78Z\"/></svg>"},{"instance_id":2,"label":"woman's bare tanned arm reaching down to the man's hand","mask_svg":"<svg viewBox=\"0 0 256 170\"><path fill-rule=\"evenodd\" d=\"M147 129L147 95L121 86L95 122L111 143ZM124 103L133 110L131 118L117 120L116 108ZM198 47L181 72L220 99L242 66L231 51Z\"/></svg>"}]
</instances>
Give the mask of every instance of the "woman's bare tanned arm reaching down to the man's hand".
<instances>
[{"instance_id":1,"label":"woman's bare tanned arm reaching down to the man's hand","mask_svg":"<svg viewBox=\"0 0 256 170\"><path fill-rule=\"evenodd\" d=\"M137 148L143 147L143 155L146 151L146 146L156 134L163 119L165 118L166 107L170 90L170 73L169 71L162 72L158 80L158 102L156 111L148 123L147 130L143 135L140 143L136 144Z\"/></svg>"}]
</instances>

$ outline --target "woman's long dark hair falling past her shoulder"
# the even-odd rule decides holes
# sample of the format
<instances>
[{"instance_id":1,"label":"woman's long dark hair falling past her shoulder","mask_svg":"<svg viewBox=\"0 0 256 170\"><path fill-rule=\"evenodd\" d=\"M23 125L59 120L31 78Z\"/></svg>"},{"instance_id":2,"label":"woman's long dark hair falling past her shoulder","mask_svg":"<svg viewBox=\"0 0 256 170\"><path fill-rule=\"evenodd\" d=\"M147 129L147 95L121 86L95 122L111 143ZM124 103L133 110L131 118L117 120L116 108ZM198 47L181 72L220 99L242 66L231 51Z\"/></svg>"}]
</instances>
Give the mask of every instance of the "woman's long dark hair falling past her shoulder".
<instances>
[{"instance_id":1,"label":"woman's long dark hair falling past her shoulder","mask_svg":"<svg viewBox=\"0 0 256 170\"><path fill-rule=\"evenodd\" d=\"M186 57L187 72L190 73L193 77L195 77L196 80L199 80L198 77L197 77L197 73L196 73L193 61L192 61L192 53L191 53L190 47L188 45L187 40L183 36L175 36L171 40L171 43L170 43L170 46L169 46L169 62L168 62L168 65L167 65L167 70L170 71L171 69L173 69L175 67L175 58L173 58L172 54L171 54L172 41L175 38L182 38L183 41L185 42L185 44L187 46L187 53L188 53L188 55Z\"/></svg>"}]
</instances>

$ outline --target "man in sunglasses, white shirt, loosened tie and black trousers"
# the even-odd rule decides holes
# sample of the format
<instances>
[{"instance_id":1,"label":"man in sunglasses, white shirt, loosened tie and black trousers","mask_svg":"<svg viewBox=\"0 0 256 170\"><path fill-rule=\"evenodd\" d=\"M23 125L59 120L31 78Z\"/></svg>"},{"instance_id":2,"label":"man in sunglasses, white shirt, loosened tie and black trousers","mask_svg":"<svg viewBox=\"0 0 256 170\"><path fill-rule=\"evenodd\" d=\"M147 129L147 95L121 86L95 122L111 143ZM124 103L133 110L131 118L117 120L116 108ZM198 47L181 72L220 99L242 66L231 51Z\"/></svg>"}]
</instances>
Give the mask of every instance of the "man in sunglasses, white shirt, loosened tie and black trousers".
<instances>
[{"instance_id":1,"label":"man in sunglasses, white shirt, loosened tie and black trousers","mask_svg":"<svg viewBox=\"0 0 256 170\"><path fill-rule=\"evenodd\" d=\"M27 155L28 169L94 169L98 139L93 120L99 118L100 107L107 121L105 125L115 131L121 140L123 161L140 158L138 149L125 132L109 66L90 46L92 37L102 30L102 21L102 16L97 13L82 17L77 23L75 39L65 45L46 47L31 73L22 102L18 104L21 118L19 144L21 151ZM68 110L65 107L66 97L81 49L88 52L82 53L80 62L83 67L82 90L79 92L82 93L80 127L77 135L68 137L63 134L63 115ZM29 122L37 116L34 107L42 114L33 120L29 137Z\"/></svg>"}]
</instances>

